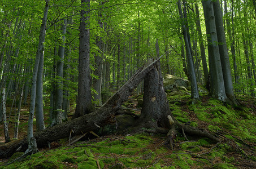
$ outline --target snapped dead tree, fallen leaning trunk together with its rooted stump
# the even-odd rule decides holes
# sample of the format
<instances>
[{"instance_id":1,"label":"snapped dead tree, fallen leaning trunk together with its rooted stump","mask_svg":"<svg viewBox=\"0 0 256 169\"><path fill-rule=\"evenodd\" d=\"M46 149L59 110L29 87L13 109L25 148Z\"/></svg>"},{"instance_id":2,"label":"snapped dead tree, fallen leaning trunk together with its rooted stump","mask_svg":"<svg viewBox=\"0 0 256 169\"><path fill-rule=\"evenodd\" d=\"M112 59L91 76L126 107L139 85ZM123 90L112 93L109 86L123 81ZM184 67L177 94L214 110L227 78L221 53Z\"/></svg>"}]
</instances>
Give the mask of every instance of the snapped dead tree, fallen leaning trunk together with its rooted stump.
<instances>
[{"instance_id":1,"label":"snapped dead tree, fallen leaning trunk together with its rooted stump","mask_svg":"<svg viewBox=\"0 0 256 169\"><path fill-rule=\"evenodd\" d=\"M149 85L145 86L144 109L142 110L141 118L139 119L141 122L140 125L151 129L152 132L168 133L167 136L171 144L173 140L172 137L176 134L176 128L183 129L183 131L192 135L209 137L212 140L218 141L218 139L207 132L202 132L196 128L178 123L172 116L168 106L166 93L163 90L162 75L160 74L158 65L159 59L138 69L132 78L129 79L129 81L127 81L96 112L36 132L34 138L37 140L37 147L40 148L52 141L68 137L71 132L73 132L73 135L80 135L81 133L97 130L99 127L115 122L115 113L121 108L123 102L128 99L134 88L136 88L145 77L145 81ZM147 92L149 92L149 95L147 95ZM151 104L152 106L150 108L152 109L145 108L147 105ZM156 121L151 123L152 119L155 119ZM25 138L4 144L0 146L0 158L8 157L18 150L25 151L27 146Z\"/></svg>"}]
</instances>

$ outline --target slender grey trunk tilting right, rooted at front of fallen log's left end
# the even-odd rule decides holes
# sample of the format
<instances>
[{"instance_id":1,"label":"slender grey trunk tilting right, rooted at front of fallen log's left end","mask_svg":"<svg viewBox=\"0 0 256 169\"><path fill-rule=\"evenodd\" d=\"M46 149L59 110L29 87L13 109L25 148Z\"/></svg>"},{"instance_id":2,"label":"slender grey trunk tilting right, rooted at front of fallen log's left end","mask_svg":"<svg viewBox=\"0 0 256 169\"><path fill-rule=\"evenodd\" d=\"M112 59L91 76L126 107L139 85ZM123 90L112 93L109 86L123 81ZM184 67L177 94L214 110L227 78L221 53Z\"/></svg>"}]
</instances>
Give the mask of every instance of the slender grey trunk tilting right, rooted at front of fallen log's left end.
<instances>
[{"instance_id":1,"label":"slender grey trunk tilting right, rooted at front of fallen log's left end","mask_svg":"<svg viewBox=\"0 0 256 169\"><path fill-rule=\"evenodd\" d=\"M30 146L31 141L33 140L33 118L34 118L34 107L36 103L36 88L37 88L37 73L38 73L38 67L40 64L40 58L42 55L42 52L44 52L44 42L45 42L45 31L46 31L46 22L47 22L47 14L49 10L49 0L45 1L45 10L44 10L44 17L42 18L42 24L40 29L40 35L39 35L39 43L38 48L36 52L36 61L34 63L34 69L33 69L33 77L32 77L32 90L31 90L31 105L29 109L29 118L28 118L28 136L27 136L27 142ZM34 148L29 147L29 150Z\"/></svg>"}]
</instances>

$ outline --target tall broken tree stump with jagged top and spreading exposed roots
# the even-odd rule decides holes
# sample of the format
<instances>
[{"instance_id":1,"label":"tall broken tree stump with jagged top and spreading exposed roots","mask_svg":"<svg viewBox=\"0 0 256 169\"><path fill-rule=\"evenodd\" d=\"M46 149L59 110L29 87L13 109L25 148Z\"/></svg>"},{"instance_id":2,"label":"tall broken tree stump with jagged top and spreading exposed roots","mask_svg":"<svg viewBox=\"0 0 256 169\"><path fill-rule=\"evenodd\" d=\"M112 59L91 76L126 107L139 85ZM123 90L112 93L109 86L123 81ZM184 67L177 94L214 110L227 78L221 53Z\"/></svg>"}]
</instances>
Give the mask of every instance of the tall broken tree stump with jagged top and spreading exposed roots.
<instances>
[{"instance_id":1,"label":"tall broken tree stump with jagged top and spreading exposed roots","mask_svg":"<svg viewBox=\"0 0 256 169\"><path fill-rule=\"evenodd\" d=\"M219 140L208 132L198 130L191 126L179 123L173 117L166 92L163 87L163 78L160 71L159 62L155 64L144 79L144 96L140 118L133 131L141 131L142 128L148 132L167 134L167 141L173 149L173 140L177 132L181 132L186 137L188 135L207 137L213 141ZM143 131L142 130L142 131Z\"/></svg>"}]
</instances>

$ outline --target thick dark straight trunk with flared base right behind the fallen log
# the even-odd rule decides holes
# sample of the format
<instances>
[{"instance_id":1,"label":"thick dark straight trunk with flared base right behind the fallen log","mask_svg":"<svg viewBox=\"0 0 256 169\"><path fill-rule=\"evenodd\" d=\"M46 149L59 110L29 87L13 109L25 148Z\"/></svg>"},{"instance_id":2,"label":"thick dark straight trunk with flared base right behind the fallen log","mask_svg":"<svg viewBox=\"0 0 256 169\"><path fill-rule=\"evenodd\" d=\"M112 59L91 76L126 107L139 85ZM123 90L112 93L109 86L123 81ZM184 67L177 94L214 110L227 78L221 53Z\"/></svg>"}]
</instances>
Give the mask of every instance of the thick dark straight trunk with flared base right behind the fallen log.
<instances>
[{"instance_id":1,"label":"thick dark straight trunk with flared base right behind the fallen log","mask_svg":"<svg viewBox=\"0 0 256 169\"><path fill-rule=\"evenodd\" d=\"M89 9L90 0L81 0L81 20L79 35L79 75L76 111L72 119L92 112L92 93L90 90L90 29Z\"/></svg>"}]
</instances>

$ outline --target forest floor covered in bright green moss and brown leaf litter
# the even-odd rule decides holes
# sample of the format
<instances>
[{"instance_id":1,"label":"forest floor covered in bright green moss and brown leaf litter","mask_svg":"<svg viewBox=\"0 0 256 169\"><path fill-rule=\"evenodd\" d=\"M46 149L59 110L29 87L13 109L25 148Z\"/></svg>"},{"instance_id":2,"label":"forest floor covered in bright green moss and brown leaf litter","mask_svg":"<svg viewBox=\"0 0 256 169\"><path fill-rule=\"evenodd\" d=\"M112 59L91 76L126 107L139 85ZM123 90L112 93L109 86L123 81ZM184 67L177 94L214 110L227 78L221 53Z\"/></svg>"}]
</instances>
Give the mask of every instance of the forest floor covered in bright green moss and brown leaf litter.
<instances>
[{"instance_id":1,"label":"forest floor covered in bright green moss and brown leaf litter","mask_svg":"<svg viewBox=\"0 0 256 169\"><path fill-rule=\"evenodd\" d=\"M51 143L50 150L45 147L8 166L2 165L21 153L0 159L0 168L256 168L256 99L237 96L242 106L233 108L208 96L202 96L201 101L192 105L187 92L167 94L177 121L209 131L219 137L220 142L216 144L206 138L186 135L188 141L179 134L171 150L165 135L131 135L127 130L125 134L86 135L71 145L64 145L68 138L58 140ZM124 106L139 109L141 98L131 97ZM26 135L28 108L23 108L21 113L19 137ZM10 119L10 136L13 137L14 117ZM0 127L3 144L2 122Z\"/></svg>"}]
</instances>

